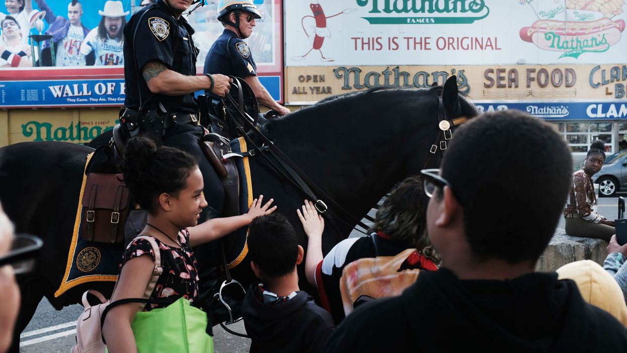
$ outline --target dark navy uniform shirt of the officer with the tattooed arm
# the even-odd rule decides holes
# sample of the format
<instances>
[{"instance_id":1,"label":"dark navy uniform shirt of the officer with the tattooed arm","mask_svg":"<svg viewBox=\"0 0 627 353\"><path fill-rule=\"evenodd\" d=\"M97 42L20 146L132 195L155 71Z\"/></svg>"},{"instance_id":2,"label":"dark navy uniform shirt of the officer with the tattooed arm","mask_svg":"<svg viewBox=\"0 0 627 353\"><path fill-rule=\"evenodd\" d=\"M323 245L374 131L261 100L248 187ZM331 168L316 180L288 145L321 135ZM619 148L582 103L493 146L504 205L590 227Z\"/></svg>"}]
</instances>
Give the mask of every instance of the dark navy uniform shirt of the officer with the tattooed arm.
<instances>
[{"instance_id":1,"label":"dark navy uniform shirt of the officer with the tattooed arm","mask_svg":"<svg viewBox=\"0 0 627 353\"><path fill-rule=\"evenodd\" d=\"M196 75L198 53L192 34L194 29L184 16L177 19L163 0L138 11L130 18L124 27L125 107L139 109L141 93L144 109L156 109L161 102L169 113L198 113L194 93L176 96L153 94L139 71L150 61L160 61L181 75Z\"/></svg>"}]
</instances>

